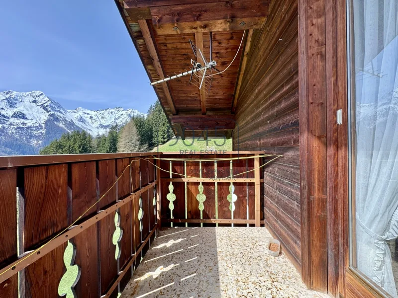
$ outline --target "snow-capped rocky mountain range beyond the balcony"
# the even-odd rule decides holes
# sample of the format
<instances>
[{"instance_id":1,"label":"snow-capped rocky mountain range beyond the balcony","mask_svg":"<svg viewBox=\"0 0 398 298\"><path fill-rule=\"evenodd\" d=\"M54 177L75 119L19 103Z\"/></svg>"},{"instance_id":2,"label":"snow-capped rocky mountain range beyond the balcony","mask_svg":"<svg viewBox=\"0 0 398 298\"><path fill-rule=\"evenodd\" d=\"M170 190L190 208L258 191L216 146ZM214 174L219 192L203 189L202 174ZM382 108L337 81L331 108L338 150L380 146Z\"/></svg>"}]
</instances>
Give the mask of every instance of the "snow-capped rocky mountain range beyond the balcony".
<instances>
[{"instance_id":1,"label":"snow-capped rocky mountain range beyond the balcony","mask_svg":"<svg viewBox=\"0 0 398 298\"><path fill-rule=\"evenodd\" d=\"M65 132L85 130L106 134L113 124L145 116L120 107L105 110L66 110L41 91L0 92L0 155L36 154Z\"/></svg>"}]
</instances>

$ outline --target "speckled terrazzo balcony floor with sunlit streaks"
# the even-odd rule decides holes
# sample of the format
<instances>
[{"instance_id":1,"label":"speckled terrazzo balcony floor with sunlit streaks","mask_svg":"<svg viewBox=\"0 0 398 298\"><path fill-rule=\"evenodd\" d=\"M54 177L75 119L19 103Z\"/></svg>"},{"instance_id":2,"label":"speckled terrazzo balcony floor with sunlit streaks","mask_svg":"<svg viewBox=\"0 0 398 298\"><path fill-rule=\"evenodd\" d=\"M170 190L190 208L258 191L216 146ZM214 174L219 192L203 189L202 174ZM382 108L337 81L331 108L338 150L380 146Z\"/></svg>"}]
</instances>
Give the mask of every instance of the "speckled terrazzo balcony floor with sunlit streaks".
<instances>
[{"instance_id":1,"label":"speckled terrazzo balcony floor with sunlit streaks","mask_svg":"<svg viewBox=\"0 0 398 298\"><path fill-rule=\"evenodd\" d=\"M151 244L122 298L319 298L285 254L269 256L264 227L174 227Z\"/></svg>"}]
</instances>

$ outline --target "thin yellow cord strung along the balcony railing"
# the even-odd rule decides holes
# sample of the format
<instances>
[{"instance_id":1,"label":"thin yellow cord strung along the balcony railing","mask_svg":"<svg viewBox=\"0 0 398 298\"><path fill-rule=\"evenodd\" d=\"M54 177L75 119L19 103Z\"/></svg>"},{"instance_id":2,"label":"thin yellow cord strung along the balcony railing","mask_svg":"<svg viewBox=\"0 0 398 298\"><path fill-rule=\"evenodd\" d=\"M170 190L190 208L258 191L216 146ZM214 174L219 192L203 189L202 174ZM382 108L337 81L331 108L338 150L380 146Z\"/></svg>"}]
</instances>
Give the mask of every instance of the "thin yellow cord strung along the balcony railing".
<instances>
[{"instance_id":1,"label":"thin yellow cord strung along the balcony railing","mask_svg":"<svg viewBox=\"0 0 398 298\"><path fill-rule=\"evenodd\" d=\"M157 158L157 157L155 157L154 155L152 155L152 156L153 156L153 157L151 157L151 158L149 158L149 159L162 159L162 158ZM273 160L275 160L275 159L277 159L277 158L279 158L279 157L281 157L281 156L283 156L283 155L268 154L268 155L246 156L246 157L254 158L254 157L265 157L265 156L276 156L276 157L273 158L273 159L271 159L271 160L269 160L268 162L264 163L263 165L259 166L258 168L261 168L261 167L267 165L267 164L270 163L271 161L273 161ZM215 160L233 160L233 159L242 159L242 158L245 158L245 157L229 157L229 158L222 158L222 159L201 159L201 160L204 160L204 161L215 161ZM151 162L150 160L148 160L147 157L146 157L146 158L140 157L140 158L138 158L138 159L133 159L133 160L131 160L130 164L127 165L127 166L124 168L124 170L122 171L122 173L120 174L120 176L116 179L116 181L112 184L112 186L100 197L100 199L99 199L98 201L96 201L89 209L87 209L81 216L79 216L78 219L75 220L72 224L70 224L69 226L67 226L67 227L66 227L65 229L63 229L62 231L60 231L58 234L56 234L53 238L51 238L50 240L48 240L46 243L42 244L41 246L39 246L38 248L34 249L34 250L33 250L32 252L30 252L29 254L27 254L26 256L24 256L23 258L21 258L17 263L15 263L15 265L14 265L13 267L17 266L18 264L20 264L21 262L23 262L25 259L27 259L27 258L30 257L31 255L33 255L34 253L36 253L37 251L39 251L40 249L42 249L43 247L45 247L47 244L49 244L49 243L50 243L51 241L53 241L55 238L57 238L58 236L60 236L60 235L63 234L64 232L66 232L68 229L70 229L71 227L73 227L80 219L83 218L83 216L84 216L88 211L90 211L90 209L92 209L93 207L95 207L95 206L103 199L103 197L105 197L105 196L108 194L108 192L116 185L117 181L119 181L119 179L123 176L123 174L124 174L124 172L127 170L127 168L128 168L128 167L131 167L131 164L132 164L134 161L139 161L139 160L141 160L141 159L146 159L149 163L153 164L156 168L158 168L158 169L160 169L160 170L162 170L162 171L165 171L165 172L169 172L169 171L167 171L167 170L162 169L161 167L158 167L156 164L154 164L153 162ZM168 160L168 159L166 159L166 158L163 158L163 159L164 159L164 160ZM183 159L178 159L178 160L183 160ZM186 160L195 160L195 159L186 159ZM243 172L243 173L239 173L239 174L232 175L231 177L238 176L238 175L242 175L242 174L245 174L245 173L254 171L255 169L257 169L257 168L253 168L252 170L248 170L248 171L245 171L245 172ZM176 174L176 175L185 176L185 177L188 177L188 178L198 179L198 177L191 177L191 176L188 176L188 175L184 175L184 174L180 174L180 173L174 173L174 172L171 172L171 173ZM227 178L227 177L226 177L226 178ZM199 178L199 179L200 179L200 178ZM225 179L225 178L219 178L219 179ZM130 175L130 180L131 180L131 187L133 187L131 175ZM132 204L133 204L134 215L135 215L135 205L134 205L134 202L133 202ZM136 224L136 221L135 221L135 216L134 216L134 251L135 251L135 253L136 253L136 250L135 250L135 224ZM137 258L137 256L136 256L136 258ZM2 273L0 273L0 276L3 275L4 273L6 273L7 271L11 270L13 267L10 267L10 268L6 269L5 271L3 271ZM135 270L135 266L134 266L133 271L134 271L134 270Z\"/></svg>"}]
</instances>

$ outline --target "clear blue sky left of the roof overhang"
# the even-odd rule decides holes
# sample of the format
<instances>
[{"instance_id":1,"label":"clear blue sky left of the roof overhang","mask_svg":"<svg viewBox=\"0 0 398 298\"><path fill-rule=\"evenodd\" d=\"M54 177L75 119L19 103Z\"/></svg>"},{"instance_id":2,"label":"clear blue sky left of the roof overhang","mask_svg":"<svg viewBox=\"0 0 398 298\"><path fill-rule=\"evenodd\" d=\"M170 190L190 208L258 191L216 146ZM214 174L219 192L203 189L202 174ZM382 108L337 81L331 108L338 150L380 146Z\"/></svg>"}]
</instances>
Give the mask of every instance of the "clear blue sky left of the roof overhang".
<instances>
[{"instance_id":1,"label":"clear blue sky left of the roof overhang","mask_svg":"<svg viewBox=\"0 0 398 298\"><path fill-rule=\"evenodd\" d=\"M147 112L157 99L113 0L1 1L0 28L0 91L67 109Z\"/></svg>"}]
</instances>

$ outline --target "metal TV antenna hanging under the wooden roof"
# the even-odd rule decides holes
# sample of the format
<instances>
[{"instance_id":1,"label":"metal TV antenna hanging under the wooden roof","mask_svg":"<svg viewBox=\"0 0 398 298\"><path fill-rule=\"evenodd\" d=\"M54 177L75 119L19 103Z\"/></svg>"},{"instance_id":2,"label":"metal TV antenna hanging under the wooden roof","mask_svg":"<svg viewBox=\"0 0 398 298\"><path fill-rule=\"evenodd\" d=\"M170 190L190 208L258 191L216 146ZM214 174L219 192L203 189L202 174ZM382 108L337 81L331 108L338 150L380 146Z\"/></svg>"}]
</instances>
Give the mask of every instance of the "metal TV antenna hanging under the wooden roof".
<instances>
[{"instance_id":1,"label":"metal TV antenna hanging under the wooden roof","mask_svg":"<svg viewBox=\"0 0 398 298\"><path fill-rule=\"evenodd\" d=\"M231 66L231 64L234 62L236 56L239 53L240 47L242 46L243 38L245 36L245 31L246 30L243 31L242 40L240 41L239 48L235 54L235 57L232 59L231 63L228 65L228 67L226 69L224 69L223 71L217 70L217 68L216 68L217 63L212 59L213 38L212 38L212 32L210 32L210 59L209 59L209 62L207 62L207 59L204 57L202 51L190 39L189 41L191 44L191 48L195 55L195 60L191 59L191 65L192 65L191 70L190 71L185 70L184 73L180 72L180 74L175 74L172 76L168 75L168 77L166 77L166 78L152 82L151 85L153 86L156 84L167 82L169 80L190 74L191 75L190 83L196 85L199 89L203 89L206 93L209 93L210 87L211 87L211 82L213 80L213 75L221 74L221 73L225 72ZM202 63L200 63L199 61L201 61ZM215 71L214 74L213 74L213 70Z\"/></svg>"}]
</instances>

